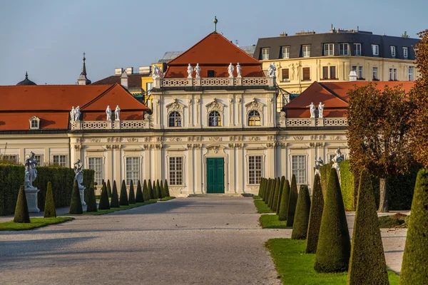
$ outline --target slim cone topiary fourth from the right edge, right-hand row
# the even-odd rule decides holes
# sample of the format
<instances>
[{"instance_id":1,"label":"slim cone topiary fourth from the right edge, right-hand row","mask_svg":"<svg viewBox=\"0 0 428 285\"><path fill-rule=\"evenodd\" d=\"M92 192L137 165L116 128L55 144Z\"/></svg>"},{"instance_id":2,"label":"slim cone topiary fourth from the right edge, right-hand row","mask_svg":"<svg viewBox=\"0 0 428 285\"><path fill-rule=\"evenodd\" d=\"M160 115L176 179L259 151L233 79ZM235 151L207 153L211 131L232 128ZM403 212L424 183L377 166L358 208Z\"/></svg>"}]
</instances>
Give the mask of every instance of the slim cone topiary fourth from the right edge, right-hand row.
<instances>
[{"instance_id":1,"label":"slim cone topiary fourth from the right edge, right-hand row","mask_svg":"<svg viewBox=\"0 0 428 285\"><path fill-rule=\"evenodd\" d=\"M320 234L323 207L324 198L322 197L320 175L315 175L312 188L312 203L310 205L309 225L307 227L305 250L307 254L315 254L315 252L317 252L318 235Z\"/></svg>"}]
</instances>

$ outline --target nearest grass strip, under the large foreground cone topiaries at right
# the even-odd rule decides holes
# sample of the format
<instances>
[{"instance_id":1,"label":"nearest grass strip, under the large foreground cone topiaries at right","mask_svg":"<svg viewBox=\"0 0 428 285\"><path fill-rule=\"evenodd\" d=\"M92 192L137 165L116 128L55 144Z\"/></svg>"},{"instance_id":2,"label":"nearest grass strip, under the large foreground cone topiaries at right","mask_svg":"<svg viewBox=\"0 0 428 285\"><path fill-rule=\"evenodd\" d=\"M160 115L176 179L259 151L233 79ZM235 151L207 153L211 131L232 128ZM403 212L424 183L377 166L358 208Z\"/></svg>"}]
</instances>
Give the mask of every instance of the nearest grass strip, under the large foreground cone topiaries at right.
<instances>
[{"instance_id":1,"label":"nearest grass strip, under the large foreground cone topiaries at right","mask_svg":"<svg viewBox=\"0 0 428 285\"><path fill-rule=\"evenodd\" d=\"M346 284L347 272L317 273L314 269L315 254L305 254L306 241L295 239L269 239L266 247L272 255L273 262L282 284ZM388 271L389 284L398 285L399 277Z\"/></svg>"}]
</instances>

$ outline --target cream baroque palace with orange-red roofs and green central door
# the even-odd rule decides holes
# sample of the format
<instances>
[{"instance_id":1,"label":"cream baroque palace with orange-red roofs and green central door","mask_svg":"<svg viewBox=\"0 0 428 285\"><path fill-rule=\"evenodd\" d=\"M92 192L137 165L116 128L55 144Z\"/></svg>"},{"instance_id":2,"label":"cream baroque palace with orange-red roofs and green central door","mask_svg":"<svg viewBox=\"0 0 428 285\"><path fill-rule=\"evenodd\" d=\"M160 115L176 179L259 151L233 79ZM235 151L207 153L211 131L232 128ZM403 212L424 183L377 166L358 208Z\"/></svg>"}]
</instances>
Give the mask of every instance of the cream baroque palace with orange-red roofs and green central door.
<instances>
[{"instance_id":1,"label":"cream baroque palace with orange-red roofs and green central door","mask_svg":"<svg viewBox=\"0 0 428 285\"><path fill-rule=\"evenodd\" d=\"M330 161L339 147L348 155L346 93L354 83L312 83L278 112L275 77L220 33L165 73L154 68L152 109L118 83L85 85L85 66L79 83L0 86L1 155L24 162L32 151L41 165L65 167L80 159L98 183L168 179L177 197L256 194L260 177L293 174L311 187L315 159ZM323 108L311 114L318 102Z\"/></svg>"}]
</instances>

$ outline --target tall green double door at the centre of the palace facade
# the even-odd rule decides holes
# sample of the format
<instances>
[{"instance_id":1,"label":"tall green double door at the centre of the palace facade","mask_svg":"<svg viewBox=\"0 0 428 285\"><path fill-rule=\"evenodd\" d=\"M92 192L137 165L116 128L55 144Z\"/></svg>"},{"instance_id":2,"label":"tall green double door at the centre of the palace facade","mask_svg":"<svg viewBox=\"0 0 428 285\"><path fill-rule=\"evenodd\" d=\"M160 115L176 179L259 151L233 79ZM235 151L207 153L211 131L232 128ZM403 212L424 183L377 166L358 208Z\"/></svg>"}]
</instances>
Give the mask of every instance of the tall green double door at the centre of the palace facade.
<instances>
[{"instance_id":1,"label":"tall green double door at the centre of the palace facade","mask_svg":"<svg viewBox=\"0 0 428 285\"><path fill-rule=\"evenodd\" d=\"M219 157L207 158L207 193L225 192L225 160Z\"/></svg>"}]
</instances>

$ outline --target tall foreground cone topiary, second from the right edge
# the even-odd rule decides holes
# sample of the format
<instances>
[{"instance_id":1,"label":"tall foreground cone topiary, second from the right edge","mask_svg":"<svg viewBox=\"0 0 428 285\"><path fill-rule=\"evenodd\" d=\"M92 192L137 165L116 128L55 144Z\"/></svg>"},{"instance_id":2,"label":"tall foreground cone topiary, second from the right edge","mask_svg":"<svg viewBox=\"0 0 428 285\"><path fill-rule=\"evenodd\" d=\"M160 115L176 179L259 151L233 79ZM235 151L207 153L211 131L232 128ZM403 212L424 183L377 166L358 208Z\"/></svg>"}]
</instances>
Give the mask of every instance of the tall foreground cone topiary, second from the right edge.
<instances>
[{"instance_id":1,"label":"tall foreground cone topiary, second from the right edge","mask_svg":"<svg viewBox=\"0 0 428 285\"><path fill-rule=\"evenodd\" d=\"M368 170L363 170L360 176L347 284L389 284L376 202Z\"/></svg>"}]
</instances>

